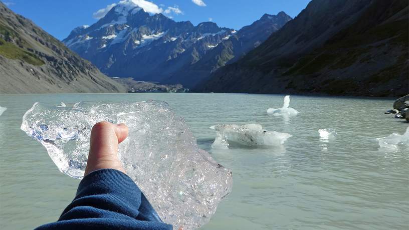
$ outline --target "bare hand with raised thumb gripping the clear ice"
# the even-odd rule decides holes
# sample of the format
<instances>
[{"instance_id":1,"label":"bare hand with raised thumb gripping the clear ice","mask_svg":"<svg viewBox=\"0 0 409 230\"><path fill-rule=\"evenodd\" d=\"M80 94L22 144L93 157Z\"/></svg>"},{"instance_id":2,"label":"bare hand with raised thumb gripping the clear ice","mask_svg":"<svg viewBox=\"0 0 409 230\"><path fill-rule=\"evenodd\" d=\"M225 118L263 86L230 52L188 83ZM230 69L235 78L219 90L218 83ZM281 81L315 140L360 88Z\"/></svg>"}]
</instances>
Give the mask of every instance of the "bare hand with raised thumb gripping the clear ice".
<instances>
[{"instance_id":1,"label":"bare hand with raised thumb gripping the clear ice","mask_svg":"<svg viewBox=\"0 0 409 230\"><path fill-rule=\"evenodd\" d=\"M118 158L118 145L128 136L125 124L115 125L106 121L92 127L90 151L84 176L98 169L112 168L126 173Z\"/></svg>"}]
</instances>

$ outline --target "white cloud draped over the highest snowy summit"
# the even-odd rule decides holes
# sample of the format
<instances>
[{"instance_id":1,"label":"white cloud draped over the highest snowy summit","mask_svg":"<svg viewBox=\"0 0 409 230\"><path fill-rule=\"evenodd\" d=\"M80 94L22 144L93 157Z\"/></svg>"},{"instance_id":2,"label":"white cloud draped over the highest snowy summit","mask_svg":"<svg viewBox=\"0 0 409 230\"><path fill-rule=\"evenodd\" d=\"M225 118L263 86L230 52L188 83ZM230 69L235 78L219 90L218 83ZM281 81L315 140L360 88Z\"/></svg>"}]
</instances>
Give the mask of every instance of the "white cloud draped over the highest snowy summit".
<instances>
[{"instance_id":1,"label":"white cloud draped over the highest snowy summit","mask_svg":"<svg viewBox=\"0 0 409 230\"><path fill-rule=\"evenodd\" d=\"M121 5L135 5L135 7L140 7L142 8L145 12L150 13L150 14L159 14L163 12L163 9L158 7L156 4L146 1L146 0L122 0L120 1L118 4ZM95 12L94 14L92 14L92 16L95 19L101 19L103 18L112 8L116 7L118 4L114 3L111 5L108 5L106 8L104 9L100 9L97 12ZM178 11L181 12L178 8L172 8L169 7L168 9L166 9L166 11L169 12L173 12L175 14L181 14L181 13L177 13Z\"/></svg>"}]
</instances>

